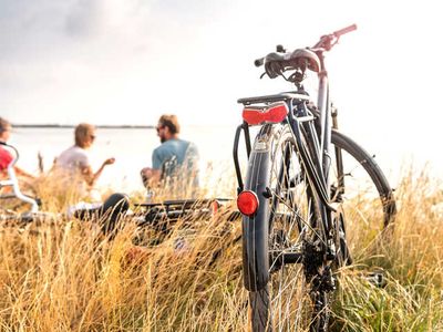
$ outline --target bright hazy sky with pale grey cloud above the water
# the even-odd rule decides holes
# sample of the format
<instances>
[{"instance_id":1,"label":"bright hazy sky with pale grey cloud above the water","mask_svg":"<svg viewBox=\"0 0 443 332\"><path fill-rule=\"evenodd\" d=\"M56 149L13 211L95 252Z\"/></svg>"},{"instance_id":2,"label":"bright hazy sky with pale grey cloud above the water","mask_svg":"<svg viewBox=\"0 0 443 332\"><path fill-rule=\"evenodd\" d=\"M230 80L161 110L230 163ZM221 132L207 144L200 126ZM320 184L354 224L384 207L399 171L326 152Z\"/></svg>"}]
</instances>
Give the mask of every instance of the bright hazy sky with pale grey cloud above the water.
<instances>
[{"instance_id":1,"label":"bright hazy sky with pale grey cloud above the water","mask_svg":"<svg viewBox=\"0 0 443 332\"><path fill-rule=\"evenodd\" d=\"M434 158L443 141L434 0L0 0L0 115L155 124L176 113L185 125L234 125L238 97L290 89L259 80L254 59L352 23L327 59L343 131Z\"/></svg>"}]
</instances>

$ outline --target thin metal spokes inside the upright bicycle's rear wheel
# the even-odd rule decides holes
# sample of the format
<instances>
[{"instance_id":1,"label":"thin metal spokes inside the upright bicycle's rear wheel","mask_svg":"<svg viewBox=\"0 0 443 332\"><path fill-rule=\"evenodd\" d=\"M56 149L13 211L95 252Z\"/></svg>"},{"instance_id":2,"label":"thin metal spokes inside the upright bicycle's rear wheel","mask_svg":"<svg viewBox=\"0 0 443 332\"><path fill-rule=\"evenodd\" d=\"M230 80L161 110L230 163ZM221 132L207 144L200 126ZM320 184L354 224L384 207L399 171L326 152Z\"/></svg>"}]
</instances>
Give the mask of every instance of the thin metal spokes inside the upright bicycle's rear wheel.
<instances>
[{"instance_id":1,"label":"thin metal spokes inside the upright bicycle's rear wheel","mask_svg":"<svg viewBox=\"0 0 443 332\"><path fill-rule=\"evenodd\" d=\"M270 281L266 291L258 292L262 297L258 303L268 303L268 314L259 313L260 318L269 315L268 323L276 331L288 331L295 329L295 323L296 329L307 329L312 315L311 284L305 280L303 242L315 239L322 246L326 242L322 230L318 228L318 201L307 189L309 181L299 162L291 131L287 126L281 128L282 133L277 135L278 139L270 148L267 187ZM254 303L257 297L254 297Z\"/></svg>"}]
</instances>

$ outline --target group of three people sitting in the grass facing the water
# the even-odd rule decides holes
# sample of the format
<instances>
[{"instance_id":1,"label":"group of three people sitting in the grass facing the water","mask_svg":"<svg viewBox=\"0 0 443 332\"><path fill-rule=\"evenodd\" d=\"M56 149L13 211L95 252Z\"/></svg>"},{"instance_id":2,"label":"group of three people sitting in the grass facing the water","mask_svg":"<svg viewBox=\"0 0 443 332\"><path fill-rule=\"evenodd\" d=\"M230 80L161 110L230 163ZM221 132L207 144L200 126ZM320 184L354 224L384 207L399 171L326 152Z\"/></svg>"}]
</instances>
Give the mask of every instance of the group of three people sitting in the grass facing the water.
<instances>
[{"instance_id":1,"label":"group of three people sitting in the grass facing the water","mask_svg":"<svg viewBox=\"0 0 443 332\"><path fill-rule=\"evenodd\" d=\"M0 117L0 142L7 143L12 126ZM162 115L156 126L161 145L153 151L152 167L141 170L142 180L150 190L166 185L174 179L186 179L192 186L198 187L198 151L194 143L179 138L181 126L175 115ZM114 157L106 158L95 172L92 169L89 148L95 139L95 127L81 123L74 131L74 145L63 151L54 160L51 173L56 174L59 185L65 189L74 189L80 199L101 200L94 185L109 165L115 163ZM7 168L13 160L8 148L0 145L0 179L8 177ZM21 179L33 180L37 177L18 166L13 167ZM1 188L0 188L1 190ZM1 204L1 201L0 201ZM99 209L106 211L119 206L126 210L128 198L124 194L111 195ZM78 214L82 215L84 214ZM87 214L86 214L87 215ZM115 219L115 218L114 218Z\"/></svg>"}]
</instances>

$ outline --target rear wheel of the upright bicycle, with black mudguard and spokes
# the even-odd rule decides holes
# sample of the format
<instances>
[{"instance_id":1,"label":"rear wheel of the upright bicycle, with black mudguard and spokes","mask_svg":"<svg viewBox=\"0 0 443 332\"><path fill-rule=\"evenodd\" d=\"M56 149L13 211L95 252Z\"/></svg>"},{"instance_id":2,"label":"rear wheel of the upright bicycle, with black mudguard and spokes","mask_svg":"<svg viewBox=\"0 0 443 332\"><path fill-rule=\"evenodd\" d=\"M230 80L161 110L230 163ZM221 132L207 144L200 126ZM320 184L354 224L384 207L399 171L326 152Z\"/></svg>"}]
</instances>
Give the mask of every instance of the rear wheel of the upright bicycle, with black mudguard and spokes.
<instances>
[{"instance_id":1,"label":"rear wheel of the upright bicycle, with black mudguard and spokes","mask_svg":"<svg viewBox=\"0 0 443 332\"><path fill-rule=\"evenodd\" d=\"M257 214L243 218L253 331L326 331L324 230L288 125L261 128L245 189L259 198Z\"/></svg>"}]
</instances>

